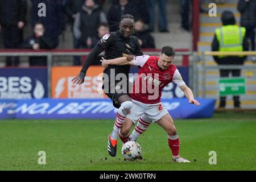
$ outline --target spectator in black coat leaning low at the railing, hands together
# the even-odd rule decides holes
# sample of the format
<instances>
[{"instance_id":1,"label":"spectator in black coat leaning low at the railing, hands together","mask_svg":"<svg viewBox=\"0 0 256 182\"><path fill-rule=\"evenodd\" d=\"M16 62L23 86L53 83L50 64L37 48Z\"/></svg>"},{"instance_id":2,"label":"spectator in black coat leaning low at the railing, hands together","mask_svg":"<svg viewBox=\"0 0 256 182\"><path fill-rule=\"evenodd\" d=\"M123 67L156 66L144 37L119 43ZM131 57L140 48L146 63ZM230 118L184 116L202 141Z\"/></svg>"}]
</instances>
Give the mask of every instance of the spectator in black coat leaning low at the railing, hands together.
<instances>
[{"instance_id":1,"label":"spectator in black coat leaning low at the railing, hands together","mask_svg":"<svg viewBox=\"0 0 256 182\"><path fill-rule=\"evenodd\" d=\"M21 48L25 49L33 49L34 51L38 51L39 49L51 49L54 47L54 43L51 41L51 38L44 35L44 26L42 23L36 23L34 27L34 35L27 38ZM47 65L47 57L46 56L31 56L29 58L29 63L31 66Z\"/></svg>"}]
</instances>

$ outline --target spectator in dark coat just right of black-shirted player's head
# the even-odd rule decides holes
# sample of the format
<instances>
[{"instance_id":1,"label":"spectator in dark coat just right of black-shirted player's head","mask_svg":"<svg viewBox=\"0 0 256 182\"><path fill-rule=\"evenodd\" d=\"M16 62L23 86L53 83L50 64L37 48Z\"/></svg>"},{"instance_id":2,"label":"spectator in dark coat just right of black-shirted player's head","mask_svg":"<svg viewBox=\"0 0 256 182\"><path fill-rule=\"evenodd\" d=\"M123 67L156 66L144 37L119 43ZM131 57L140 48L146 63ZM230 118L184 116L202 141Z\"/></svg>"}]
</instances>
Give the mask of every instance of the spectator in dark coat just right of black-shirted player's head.
<instances>
[{"instance_id":1,"label":"spectator in dark coat just right of black-shirted player's head","mask_svg":"<svg viewBox=\"0 0 256 182\"><path fill-rule=\"evenodd\" d=\"M150 35L150 31L144 22L140 19L134 24L134 36L137 36L141 48L155 48L155 40Z\"/></svg>"}]
</instances>

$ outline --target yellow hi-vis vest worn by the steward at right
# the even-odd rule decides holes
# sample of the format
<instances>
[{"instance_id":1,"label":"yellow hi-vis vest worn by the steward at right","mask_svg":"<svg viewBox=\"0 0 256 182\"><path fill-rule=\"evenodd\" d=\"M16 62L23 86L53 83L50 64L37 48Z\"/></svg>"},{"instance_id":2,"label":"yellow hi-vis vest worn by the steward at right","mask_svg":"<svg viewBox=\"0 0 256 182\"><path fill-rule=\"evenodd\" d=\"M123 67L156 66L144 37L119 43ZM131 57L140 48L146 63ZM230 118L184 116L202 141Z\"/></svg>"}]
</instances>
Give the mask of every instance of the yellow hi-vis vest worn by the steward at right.
<instances>
[{"instance_id":1,"label":"yellow hi-vis vest worn by the steward at right","mask_svg":"<svg viewBox=\"0 0 256 182\"><path fill-rule=\"evenodd\" d=\"M219 44L218 51L243 51L245 27L238 27L236 24L225 25L221 28L216 28L215 34Z\"/></svg>"}]
</instances>

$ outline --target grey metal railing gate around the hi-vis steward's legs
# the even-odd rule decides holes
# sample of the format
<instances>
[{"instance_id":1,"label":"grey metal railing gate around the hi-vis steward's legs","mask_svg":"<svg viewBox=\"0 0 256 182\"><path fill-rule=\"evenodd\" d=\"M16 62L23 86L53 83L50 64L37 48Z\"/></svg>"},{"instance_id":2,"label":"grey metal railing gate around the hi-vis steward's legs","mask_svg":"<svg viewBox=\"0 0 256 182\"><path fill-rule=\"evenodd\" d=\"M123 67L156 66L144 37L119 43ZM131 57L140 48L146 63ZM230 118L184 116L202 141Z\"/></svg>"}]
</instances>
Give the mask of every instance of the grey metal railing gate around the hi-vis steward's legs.
<instances>
[{"instance_id":1,"label":"grey metal railing gate around the hi-vis steward's legs","mask_svg":"<svg viewBox=\"0 0 256 182\"><path fill-rule=\"evenodd\" d=\"M208 57L207 57L208 56ZM243 96L246 98L245 100L250 100L250 98L256 98L255 92L256 87L255 80L256 80L256 63L250 61L250 57L247 57L246 64L243 65L217 65L212 64L212 61L208 61L210 59L209 56L256 56L256 51L243 51L243 52L218 52L218 51L207 51L207 52L193 52L193 59L191 60L190 66L191 68L191 75L190 80L192 79L192 88L195 96L199 97L216 97L218 99L218 90L212 90L213 88L218 87L218 80L219 74L216 71L220 69L240 69L241 73L243 73L243 77L247 77L246 73L251 73L250 77L246 79L250 82L250 85L247 85L249 88L250 95ZM209 74L209 75L208 75ZM215 75L216 74L216 75ZM217 75L218 74L218 75ZM216 77L216 79L215 79ZM255 79L254 79L255 77ZM251 83L253 82L253 84ZM209 85L210 84L210 85ZM200 92L199 92L200 91ZM255 99L253 99L255 100ZM255 102L255 101L254 101ZM254 103L253 102L253 103ZM253 107L256 107L253 104Z\"/></svg>"}]
</instances>

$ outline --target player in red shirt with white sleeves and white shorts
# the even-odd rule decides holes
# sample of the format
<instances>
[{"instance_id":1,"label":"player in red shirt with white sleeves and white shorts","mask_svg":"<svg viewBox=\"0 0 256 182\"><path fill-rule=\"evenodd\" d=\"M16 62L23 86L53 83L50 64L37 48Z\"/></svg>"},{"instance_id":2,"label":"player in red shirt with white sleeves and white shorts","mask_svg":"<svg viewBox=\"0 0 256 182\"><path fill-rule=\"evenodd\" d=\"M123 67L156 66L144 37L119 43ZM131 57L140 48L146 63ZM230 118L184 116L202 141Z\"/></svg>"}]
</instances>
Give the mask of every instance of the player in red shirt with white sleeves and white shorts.
<instances>
[{"instance_id":1,"label":"player in red shirt with white sleeves and white shorts","mask_svg":"<svg viewBox=\"0 0 256 182\"><path fill-rule=\"evenodd\" d=\"M179 136L174 121L162 105L160 97L164 86L174 82L183 90L189 103L196 106L199 106L200 103L195 100L192 90L185 84L176 66L172 64L174 56L174 48L165 46L162 48L159 57L135 56L132 61L127 61L126 57L112 60L102 58L102 66L105 68L108 65L137 65L141 67L130 93L133 100L131 112L126 116L125 124L119 131L122 142L136 141L151 122L158 123L168 134L168 145L172 151L172 160L177 163L188 163L189 160L181 158L179 155ZM135 123L137 123L137 126L129 136L131 127Z\"/></svg>"}]
</instances>

